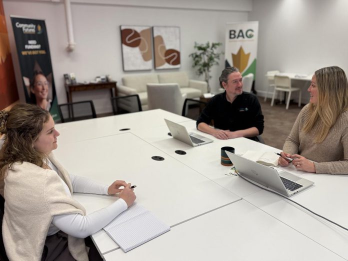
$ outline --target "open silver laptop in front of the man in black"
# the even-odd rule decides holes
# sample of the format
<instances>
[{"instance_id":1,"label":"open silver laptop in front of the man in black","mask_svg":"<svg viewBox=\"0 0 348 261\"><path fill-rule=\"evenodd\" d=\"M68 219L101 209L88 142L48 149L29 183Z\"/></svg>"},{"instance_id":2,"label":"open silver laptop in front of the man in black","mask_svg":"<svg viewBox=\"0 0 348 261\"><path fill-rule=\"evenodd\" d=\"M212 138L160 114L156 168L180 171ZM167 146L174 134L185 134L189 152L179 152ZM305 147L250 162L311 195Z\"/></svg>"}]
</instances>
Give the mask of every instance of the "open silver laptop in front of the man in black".
<instances>
[{"instance_id":1,"label":"open silver laptop in front of the man in black","mask_svg":"<svg viewBox=\"0 0 348 261\"><path fill-rule=\"evenodd\" d=\"M185 142L188 145L196 147L213 141L210 138L201 136L194 132L188 133L185 126L172 122L166 118L164 120L170 130L171 136L182 142Z\"/></svg>"}]
</instances>

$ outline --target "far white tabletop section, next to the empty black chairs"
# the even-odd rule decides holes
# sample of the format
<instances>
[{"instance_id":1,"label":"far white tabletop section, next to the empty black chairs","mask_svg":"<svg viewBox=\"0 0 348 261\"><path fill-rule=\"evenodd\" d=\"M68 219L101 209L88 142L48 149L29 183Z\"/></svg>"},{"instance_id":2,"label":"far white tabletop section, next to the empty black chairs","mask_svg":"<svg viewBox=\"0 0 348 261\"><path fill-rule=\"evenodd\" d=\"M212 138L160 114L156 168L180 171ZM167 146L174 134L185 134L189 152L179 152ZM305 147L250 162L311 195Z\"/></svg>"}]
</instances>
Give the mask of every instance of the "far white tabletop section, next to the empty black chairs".
<instances>
[{"instance_id":1,"label":"far white tabletop section, next to the empty black chairs","mask_svg":"<svg viewBox=\"0 0 348 261\"><path fill-rule=\"evenodd\" d=\"M174 122L190 120L181 115L162 109L146 110L100 118L59 123L55 129L59 131L59 144L71 143L117 133L129 132L134 129L146 129L165 125L163 118ZM129 130L120 130L130 128Z\"/></svg>"}]
</instances>

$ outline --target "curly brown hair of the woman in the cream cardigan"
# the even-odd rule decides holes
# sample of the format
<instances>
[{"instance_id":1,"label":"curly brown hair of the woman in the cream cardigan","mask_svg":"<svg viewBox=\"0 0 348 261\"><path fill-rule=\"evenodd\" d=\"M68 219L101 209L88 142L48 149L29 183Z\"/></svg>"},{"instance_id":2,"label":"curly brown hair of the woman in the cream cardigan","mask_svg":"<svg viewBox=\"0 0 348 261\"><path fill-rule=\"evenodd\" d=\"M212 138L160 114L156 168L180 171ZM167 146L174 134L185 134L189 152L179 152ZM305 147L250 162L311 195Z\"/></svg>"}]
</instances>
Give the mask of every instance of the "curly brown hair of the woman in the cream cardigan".
<instances>
[{"instance_id":1,"label":"curly brown hair of the woman in the cream cardigan","mask_svg":"<svg viewBox=\"0 0 348 261\"><path fill-rule=\"evenodd\" d=\"M16 104L9 111L0 111L0 134L5 134L0 156L0 179L14 162L27 161L43 167L44 155L34 148L48 111L32 104Z\"/></svg>"}]
</instances>

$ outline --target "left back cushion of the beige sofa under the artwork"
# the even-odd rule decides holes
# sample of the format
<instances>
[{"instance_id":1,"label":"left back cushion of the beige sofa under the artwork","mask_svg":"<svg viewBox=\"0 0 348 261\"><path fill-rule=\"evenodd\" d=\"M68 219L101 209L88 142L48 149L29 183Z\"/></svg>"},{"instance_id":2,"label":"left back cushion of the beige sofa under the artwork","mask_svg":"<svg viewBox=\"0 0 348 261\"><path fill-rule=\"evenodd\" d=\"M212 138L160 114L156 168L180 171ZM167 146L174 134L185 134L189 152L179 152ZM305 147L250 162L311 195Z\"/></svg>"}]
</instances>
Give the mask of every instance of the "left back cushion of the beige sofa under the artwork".
<instances>
[{"instance_id":1,"label":"left back cushion of the beige sofa under the artwork","mask_svg":"<svg viewBox=\"0 0 348 261\"><path fill-rule=\"evenodd\" d=\"M137 92L146 91L147 83L158 83L158 77L155 73L131 74L122 77L124 86L136 89Z\"/></svg>"}]
</instances>

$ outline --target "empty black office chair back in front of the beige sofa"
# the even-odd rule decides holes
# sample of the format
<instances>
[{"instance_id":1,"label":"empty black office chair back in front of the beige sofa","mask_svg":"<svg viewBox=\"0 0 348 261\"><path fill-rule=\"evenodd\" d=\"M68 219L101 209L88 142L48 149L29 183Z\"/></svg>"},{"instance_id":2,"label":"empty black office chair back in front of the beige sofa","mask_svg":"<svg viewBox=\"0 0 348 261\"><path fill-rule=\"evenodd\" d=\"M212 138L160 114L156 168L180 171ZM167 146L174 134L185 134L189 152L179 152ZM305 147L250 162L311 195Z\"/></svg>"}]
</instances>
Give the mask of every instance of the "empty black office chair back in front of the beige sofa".
<instances>
[{"instance_id":1,"label":"empty black office chair back in front of the beige sofa","mask_svg":"<svg viewBox=\"0 0 348 261\"><path fill-rule=\"evenodd\" d=\"M112 97L111 104L114 115L142 110L138 94Z\"/></svg>"}]
</instances>

